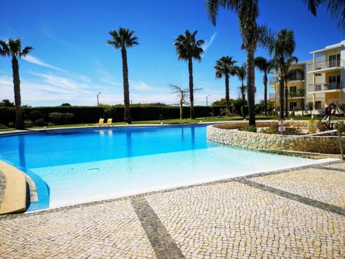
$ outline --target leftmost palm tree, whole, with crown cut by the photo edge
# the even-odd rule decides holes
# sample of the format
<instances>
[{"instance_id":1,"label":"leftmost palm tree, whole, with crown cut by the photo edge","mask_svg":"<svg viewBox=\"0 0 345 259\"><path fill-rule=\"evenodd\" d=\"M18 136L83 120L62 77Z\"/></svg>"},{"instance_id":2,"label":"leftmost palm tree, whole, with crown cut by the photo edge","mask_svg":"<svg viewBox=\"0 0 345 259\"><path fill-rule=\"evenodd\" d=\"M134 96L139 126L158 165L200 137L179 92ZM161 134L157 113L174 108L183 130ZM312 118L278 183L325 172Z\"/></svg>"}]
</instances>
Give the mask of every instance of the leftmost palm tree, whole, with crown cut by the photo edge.
<instances>
[{"instance_id":1,"label":"leftmost palm tree, whole, with crown cut by the photo edge","mask_svg":"<svg viewBox=\"0 0 345 259\"><path fill-rule=\"evenodd\" d=\"M28 46L21 48L21 38L0 41L0 55L12 59L12 75L14 86L14 104L16 106L16 125L18 129L24 128L23 116L21 115L21 81L19 77L18 59L25 57L34 48Z\"/></svg>"}]
</instances>

